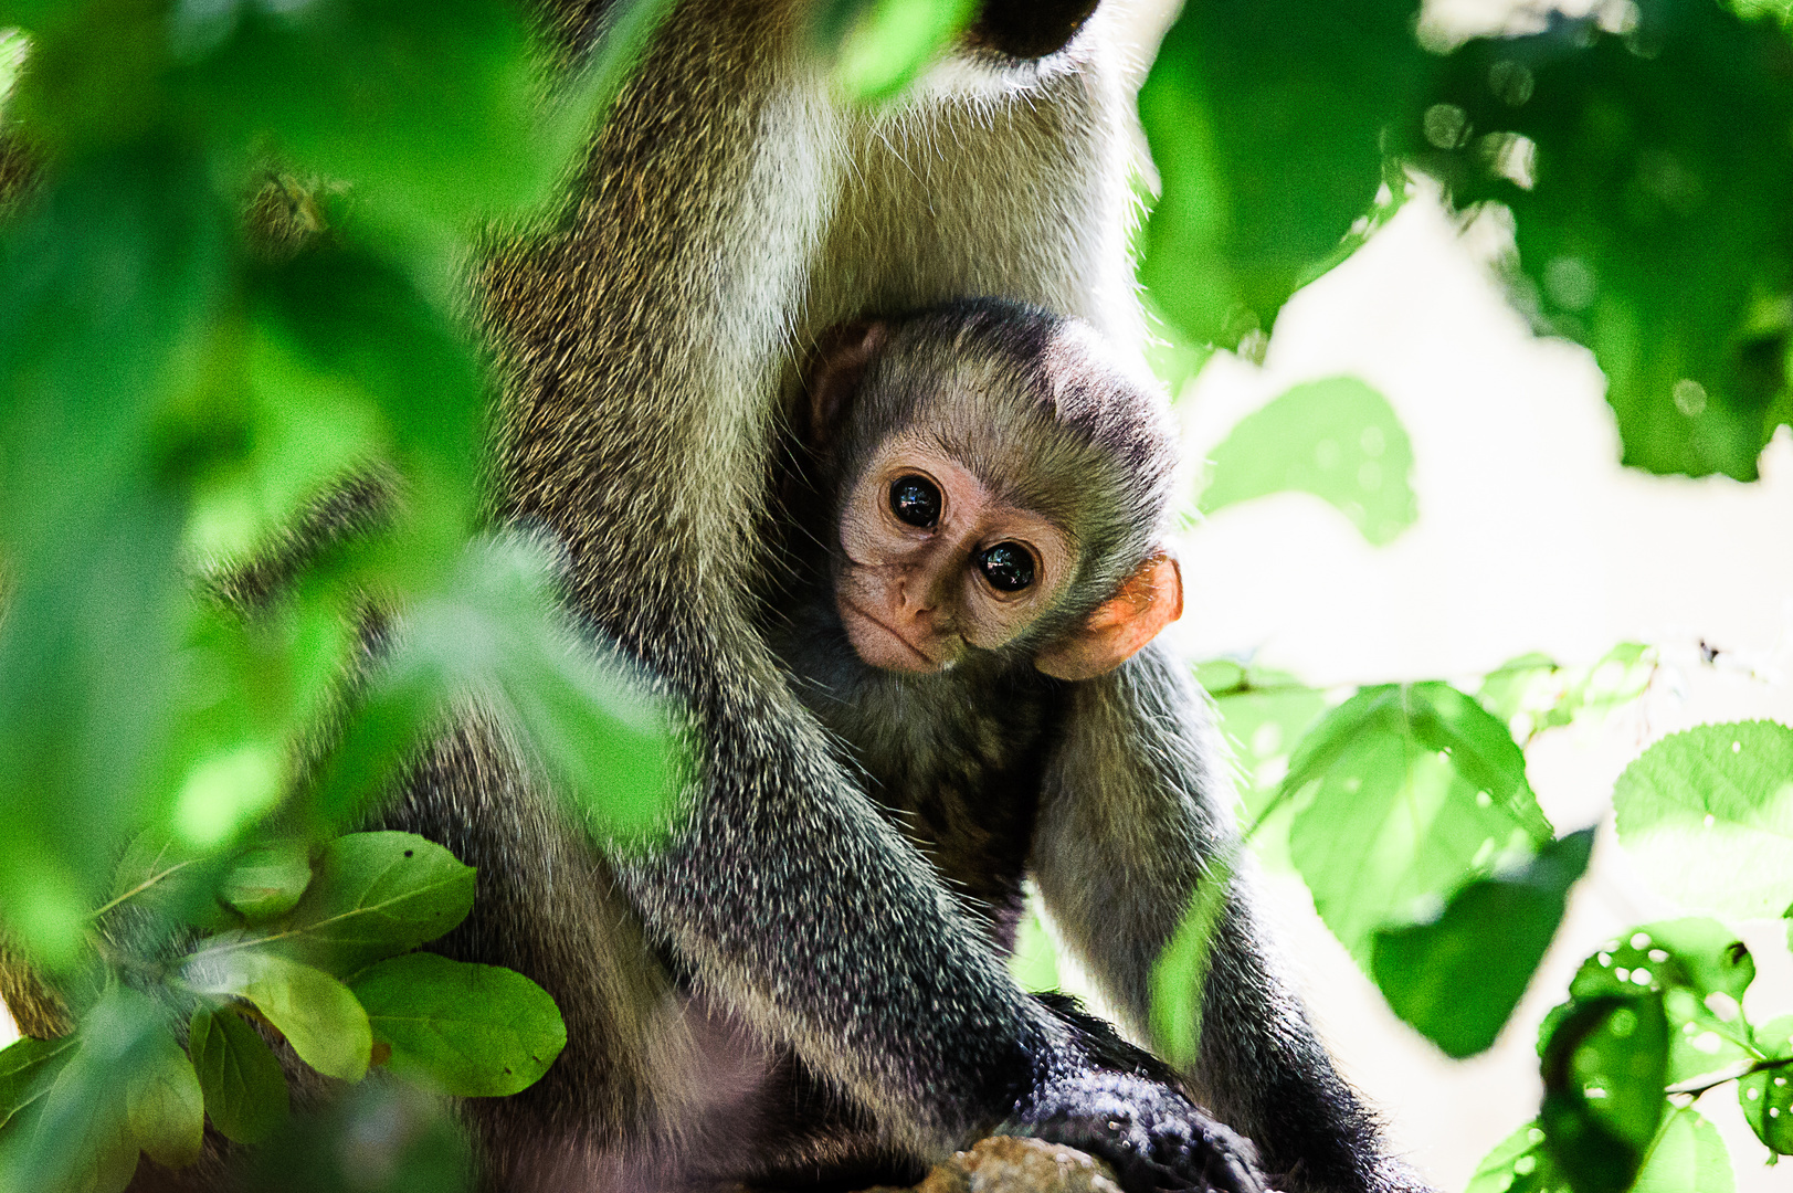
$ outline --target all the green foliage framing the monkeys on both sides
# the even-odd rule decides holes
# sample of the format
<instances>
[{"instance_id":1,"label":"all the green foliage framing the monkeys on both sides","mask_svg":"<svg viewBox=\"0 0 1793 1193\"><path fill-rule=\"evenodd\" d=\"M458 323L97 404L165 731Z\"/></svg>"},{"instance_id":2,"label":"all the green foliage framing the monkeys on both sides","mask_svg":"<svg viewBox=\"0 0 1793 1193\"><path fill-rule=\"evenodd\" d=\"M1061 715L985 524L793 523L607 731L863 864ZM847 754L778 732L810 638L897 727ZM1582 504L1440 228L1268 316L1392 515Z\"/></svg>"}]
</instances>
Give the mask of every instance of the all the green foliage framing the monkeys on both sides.
<instances>
[{"instance_id":1,"label":"all the green foliage framing the monkeys on both sides","mask_svg":"<svg viewBox=\"0 0 1793 1193\"><path fill-rule=\"evenodd\" d=\"M190 1161L210 1119L265 1141L267 1188L332 1188L332 1139L360 1116L403 1125L385 1188L452 1188L455 1136L416 1091L506 1094L559 1049L525 978L414 951L466 915L473 872L346 831L450 703L533 743L599 838L665 820L660 712L556 621L541 544L482 529L491 386L454 303L475 228L552 213L667 7L635 0L595 66L549 75L498 0L0 4L0 29L29 34L0 34L0 83L18 74L0 917L74 1028L0 1051L0 1186L117 1189L140 1152ZM812 45L848 93L902 102L974 9L828 0ZM1411 0L1191 4L1140 97L1160 361L1174 379L1260 341L1425 174L1463 210L1511 210L1515 303L1592 348L1628 463L1754 477L1793 409L1786 16L1610 0L1434 47ZM1411 466L1388 402L1330 379L1241 422L1196 504L1298 488L1386 544L1416 517ZM344 483L384 497L346 518L326 497ZM1241 743L1253 847L1289 858L1402 1019L1467 1057L1589 859L1590 832L1540 811L1524 746L1653 671L1624 644L1587 667L1517 658L1476 691L1336 700L1228 660L1200 675ZM1614 791L1621 843L1691 911L1782 915L1789 779L1786 727L1664 739ZM1198 897L1156 974L1173 1057L1200 1033L1216 910ZM1049 981L1051 958L1020 971ZM1540 1033L1535 1121L1472 1189L1727 1189L1691 1109L1714 1089L1770 1157L1793 1154L1793 1021L1746 1021L1752 976L1714 919L1589 958ZM382 1076L294 1116L269 1041Z\"/></svg>"}]
</instances>

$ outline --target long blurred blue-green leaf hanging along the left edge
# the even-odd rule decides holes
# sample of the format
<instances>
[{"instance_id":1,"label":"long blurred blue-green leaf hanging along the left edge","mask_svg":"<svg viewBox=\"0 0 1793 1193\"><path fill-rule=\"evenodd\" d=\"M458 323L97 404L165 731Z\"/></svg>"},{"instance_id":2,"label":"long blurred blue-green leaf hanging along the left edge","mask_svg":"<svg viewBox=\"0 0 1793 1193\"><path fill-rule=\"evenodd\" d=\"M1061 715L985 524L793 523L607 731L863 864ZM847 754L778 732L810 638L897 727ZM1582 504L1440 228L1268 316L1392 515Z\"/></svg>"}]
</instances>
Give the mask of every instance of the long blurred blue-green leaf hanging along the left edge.
<instances>
[{"instance_id":1,"label":"long blurred blue-green leaf hanging along the left edge","mask_svg":"<svg viewBox=\"0 0 1793 1193\"><path fill-rule=\"evenodd\" d=\"M179 504L158 436L224 271L204 163L70 167L0 242L0 906L39 962L79 924L169 734ZM127 684L117 676L129 676Z\"/></svg>"}]
</instances>

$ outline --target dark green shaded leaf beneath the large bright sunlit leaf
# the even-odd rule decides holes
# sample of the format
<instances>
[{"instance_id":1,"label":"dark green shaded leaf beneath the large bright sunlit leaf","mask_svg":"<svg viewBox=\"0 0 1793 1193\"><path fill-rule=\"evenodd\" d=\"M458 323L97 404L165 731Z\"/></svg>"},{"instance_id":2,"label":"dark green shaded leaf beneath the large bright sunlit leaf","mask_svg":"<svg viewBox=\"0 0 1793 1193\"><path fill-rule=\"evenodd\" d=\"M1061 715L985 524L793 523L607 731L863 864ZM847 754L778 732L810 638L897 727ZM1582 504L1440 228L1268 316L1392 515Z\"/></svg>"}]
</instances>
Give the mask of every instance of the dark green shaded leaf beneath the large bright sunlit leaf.
<instances>
[{"instance_id":1,"label":"dark green shaded leaf beneath the large bright sunlit leaf","mask_svg":"<svg viewBox=\"0 0 1793 1193\"><path fill-rule=\"evenodd\" d=\"M1449 1057L1488 1049L1556 936L1592 849L1592 829L1571 832L1519 870L1467 883L1429 922L1375 929L1370 974L1388 1005Z\"/></svg>"}]
</instances>

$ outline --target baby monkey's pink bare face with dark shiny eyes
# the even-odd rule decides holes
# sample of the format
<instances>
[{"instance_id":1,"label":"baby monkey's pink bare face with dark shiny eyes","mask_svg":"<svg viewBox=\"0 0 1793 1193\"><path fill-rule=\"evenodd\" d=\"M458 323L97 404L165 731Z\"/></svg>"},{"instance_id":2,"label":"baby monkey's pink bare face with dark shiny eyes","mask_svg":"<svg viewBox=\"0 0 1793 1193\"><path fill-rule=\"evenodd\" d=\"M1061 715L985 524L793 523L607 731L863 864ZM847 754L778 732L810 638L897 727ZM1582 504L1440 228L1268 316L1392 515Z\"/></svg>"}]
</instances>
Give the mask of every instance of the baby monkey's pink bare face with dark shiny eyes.
<instances>
[{"instance_id":1,"label":"baby monkey's pink bare face with dark shiny eyes","mask_svg":"<svg viewBox=\"0 0 1793 1193\"><path fill-rule=\"evenodd\" d=\"M995 497L922 436L871 457L841 508L834 583L853 649L873 667L941 671L995 649L1049 610L1078 565L1070 536Z\"/></svg>"}]
</instances>

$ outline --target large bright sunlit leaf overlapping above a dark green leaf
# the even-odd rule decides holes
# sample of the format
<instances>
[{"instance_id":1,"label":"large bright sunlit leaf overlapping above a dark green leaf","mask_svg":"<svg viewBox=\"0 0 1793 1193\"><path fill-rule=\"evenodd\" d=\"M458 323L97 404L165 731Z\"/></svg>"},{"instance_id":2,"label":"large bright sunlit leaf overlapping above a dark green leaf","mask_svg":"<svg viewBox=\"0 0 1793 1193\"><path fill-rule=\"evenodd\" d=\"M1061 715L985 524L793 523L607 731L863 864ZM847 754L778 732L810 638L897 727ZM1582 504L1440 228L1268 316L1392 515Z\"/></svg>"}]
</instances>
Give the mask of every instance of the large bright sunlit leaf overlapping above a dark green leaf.
<instances>
[{"instance_id":1,"label":"large bright sunlit leaf overlapping above a dark green leaf","mask_svg":"<svg viewBox=\"0 0 1793 1193\"><path fill-rule=\"evenodd\" d=\"M1449 684L1366 687L1289 762L1289 854L1366 971L1372 933L1549 843L1506 727Z\"/></svg>"}]
</instances>

